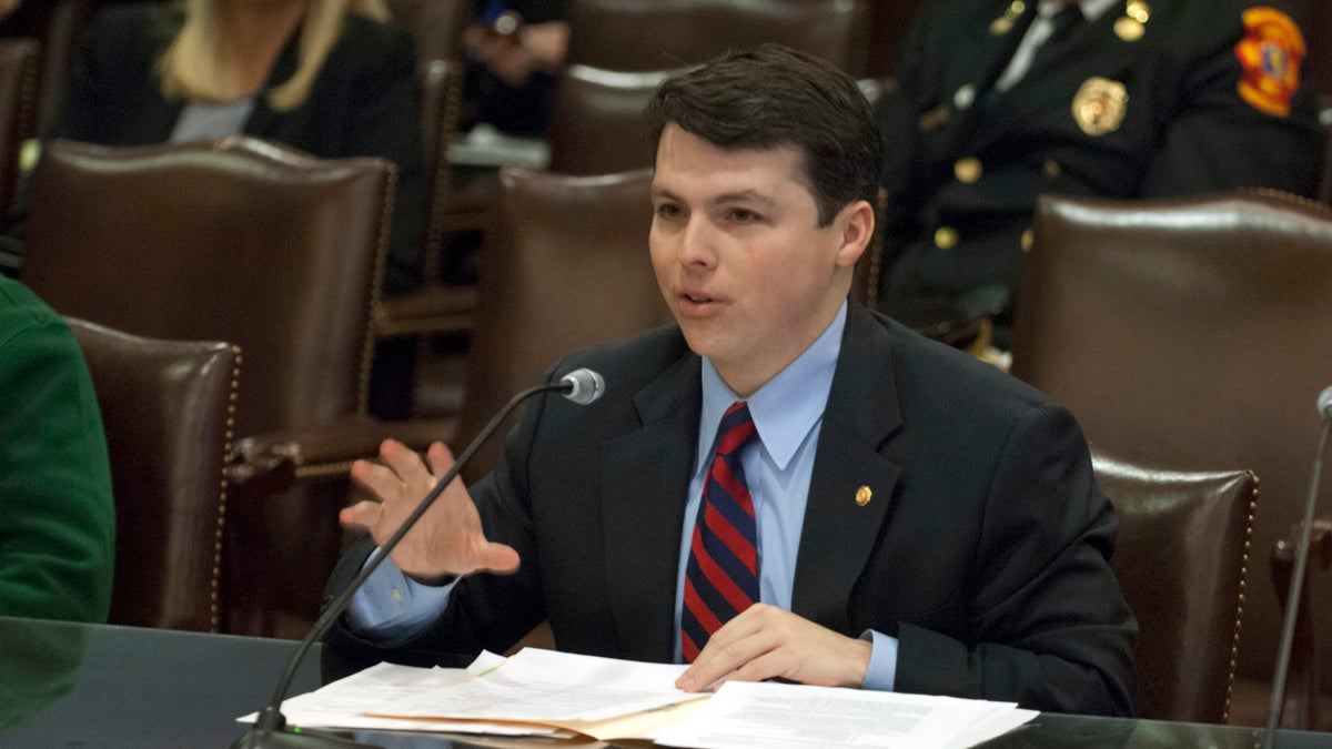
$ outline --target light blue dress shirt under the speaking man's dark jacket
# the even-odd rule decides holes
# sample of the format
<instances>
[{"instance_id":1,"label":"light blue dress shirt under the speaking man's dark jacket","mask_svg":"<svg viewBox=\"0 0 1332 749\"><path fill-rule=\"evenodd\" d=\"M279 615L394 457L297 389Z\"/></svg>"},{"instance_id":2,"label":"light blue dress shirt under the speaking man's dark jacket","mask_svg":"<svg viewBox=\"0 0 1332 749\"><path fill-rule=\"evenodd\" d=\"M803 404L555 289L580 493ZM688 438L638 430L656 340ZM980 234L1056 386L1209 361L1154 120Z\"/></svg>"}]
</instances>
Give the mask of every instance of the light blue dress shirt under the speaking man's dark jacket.
<instances>
[{"instance_id":1,"label":"light blue dress shirt under the speaking man's dark jacket","mask_svg":"<svg viewBox=\"0 0 1332 749\"><path fill-rule=\"evenodd\" d=\"M814 472L823 409L832 386L846 328L846 303L832 324L805 353L747 398L759 438L741 453L758 529L759 600L791 608L795 562L805 525L805 506ZM722 381L711 361L703 359L702 414L698 448L681 528L679 570L675 585L675 662L681 662L679 614L685 600L685 566L702 502L707 465L717 452L717 425L733 402L741 400ZM378 550L374 552L378 554ZM373 558L373 557L372 557ZM366 637L388 644L402 642L440 617L453 584L433 588L402 574L385 561L352 598L350 624ZM898 642L879 632L860 636L874 644L866 689L891 690L896 678Z\"/></svg>"}]
</instances>

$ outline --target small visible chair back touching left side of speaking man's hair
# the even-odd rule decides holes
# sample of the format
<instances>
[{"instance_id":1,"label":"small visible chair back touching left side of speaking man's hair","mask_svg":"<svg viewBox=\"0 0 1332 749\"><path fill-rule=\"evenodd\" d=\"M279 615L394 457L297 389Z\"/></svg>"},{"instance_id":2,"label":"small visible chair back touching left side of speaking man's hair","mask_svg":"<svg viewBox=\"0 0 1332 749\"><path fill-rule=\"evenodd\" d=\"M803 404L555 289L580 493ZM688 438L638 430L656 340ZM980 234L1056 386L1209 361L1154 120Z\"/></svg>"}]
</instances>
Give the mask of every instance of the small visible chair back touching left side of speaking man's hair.
<instances>
[{"instance_id":1,"label":"small visible chair back touching left side of speaking man's hair","mask_svg":"<svg viewBox=\"0 0 1332 749\"><path fill-rule=\"evenodd\" d=\"M569 65L550 108L550 171L609 175L651 167L657 148L643 108L669 75Z\"/></svg>"}]
</instances>

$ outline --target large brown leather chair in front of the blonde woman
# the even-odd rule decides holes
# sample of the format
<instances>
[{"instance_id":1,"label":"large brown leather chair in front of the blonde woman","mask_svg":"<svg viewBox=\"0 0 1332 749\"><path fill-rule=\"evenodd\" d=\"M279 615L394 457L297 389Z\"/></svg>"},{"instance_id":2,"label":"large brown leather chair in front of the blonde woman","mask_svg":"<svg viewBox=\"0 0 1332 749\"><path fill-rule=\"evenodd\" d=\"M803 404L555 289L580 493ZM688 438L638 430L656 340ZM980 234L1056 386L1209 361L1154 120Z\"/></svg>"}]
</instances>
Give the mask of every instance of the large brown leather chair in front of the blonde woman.
<instances>
[{"instance_id":1,"label":"large brown leather chair in front of the blonde woman","mask_svg":"<svg viewBox=\"0 0 1332 749\"><path fill-rule=\"evenodd\" d=\"M392 191L384 160L318 160L246 137L53 141L33 175L21 277L56 311L245 349L224 578L232 632L312 618L340 552L346 465L377 448L368 343Z\"/></svg>"}]
</instances>

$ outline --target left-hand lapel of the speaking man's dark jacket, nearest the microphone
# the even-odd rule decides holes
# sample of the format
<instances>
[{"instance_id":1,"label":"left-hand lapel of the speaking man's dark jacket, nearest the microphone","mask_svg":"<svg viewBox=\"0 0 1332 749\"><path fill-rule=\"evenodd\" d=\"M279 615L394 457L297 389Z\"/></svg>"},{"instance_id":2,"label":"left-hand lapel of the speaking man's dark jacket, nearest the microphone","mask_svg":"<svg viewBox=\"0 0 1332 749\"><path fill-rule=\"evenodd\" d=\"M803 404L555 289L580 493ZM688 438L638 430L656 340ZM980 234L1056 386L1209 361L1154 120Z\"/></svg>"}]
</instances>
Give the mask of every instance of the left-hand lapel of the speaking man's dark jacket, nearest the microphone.
<instances>
[{"instance_id":1,"label":"left-hand lapel of the speaking man's dark jacket, nearest the microphone","mask_svg":"<svg viewBox=\"0 0 1332 749\"><path fill-rule=\"evenodd\" d=\"M602 533L610 605L623 654L670 661L685 494L702 404L699 359L687 355L641 390L642 428L602 445Z\"/></svg>"}]
</instances>

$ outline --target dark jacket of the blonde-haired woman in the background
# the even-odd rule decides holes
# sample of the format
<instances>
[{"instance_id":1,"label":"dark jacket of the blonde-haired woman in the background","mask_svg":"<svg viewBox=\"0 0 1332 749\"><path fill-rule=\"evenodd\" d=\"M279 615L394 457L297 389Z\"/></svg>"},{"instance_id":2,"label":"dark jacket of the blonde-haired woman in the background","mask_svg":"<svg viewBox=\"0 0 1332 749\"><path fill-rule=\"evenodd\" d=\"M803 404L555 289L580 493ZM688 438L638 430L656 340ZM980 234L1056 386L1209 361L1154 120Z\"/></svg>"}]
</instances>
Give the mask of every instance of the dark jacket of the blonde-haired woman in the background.
<instances>
[{"instance_id":1,"label":"dark jacket of the blonde-haired woman in the background","mask_svg":"<svg viewBox=\"0 0 1332 749\"><path fill-rule=\"evenodd\" d=\"M156 3L100 13L51 135L101 145L166 141L185 101L163 97L155 67L182 20L173 7ZM348 16L306 101L278 112L269 107L266 92L296 72L297 36L278 55L244 133L321 159L378 156L397 164L385 289L408 291L420 277L426 195L412 39L377 21Z\"/></svg>"}]
</instances>

